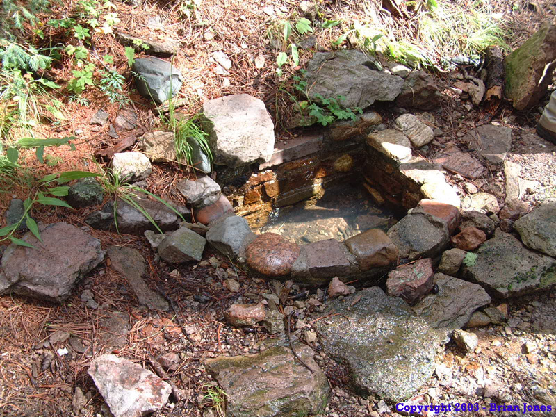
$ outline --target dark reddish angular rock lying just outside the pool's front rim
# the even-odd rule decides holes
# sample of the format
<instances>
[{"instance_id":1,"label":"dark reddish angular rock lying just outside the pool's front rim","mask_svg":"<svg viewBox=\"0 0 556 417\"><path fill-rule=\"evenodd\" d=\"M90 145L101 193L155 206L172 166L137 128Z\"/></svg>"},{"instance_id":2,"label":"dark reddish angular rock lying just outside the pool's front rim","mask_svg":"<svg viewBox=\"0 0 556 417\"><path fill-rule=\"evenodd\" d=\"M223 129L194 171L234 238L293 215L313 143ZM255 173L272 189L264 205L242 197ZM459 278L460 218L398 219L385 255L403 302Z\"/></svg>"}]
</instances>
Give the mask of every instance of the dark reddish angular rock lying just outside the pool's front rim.
<instances>
[{"instance_id":1,"label":"dark reddish angular rock lying just outside the pool's front rim","mask_svg":"<svg viewBox=\"0 0 556 417\"><path fill-rule=\"evenodd\" d=\"M392 270L386 280L388 295L401 297L409 304L413 304L432 290L433 275L430 258L420 259Z\"/></svg>"}]
</instances>

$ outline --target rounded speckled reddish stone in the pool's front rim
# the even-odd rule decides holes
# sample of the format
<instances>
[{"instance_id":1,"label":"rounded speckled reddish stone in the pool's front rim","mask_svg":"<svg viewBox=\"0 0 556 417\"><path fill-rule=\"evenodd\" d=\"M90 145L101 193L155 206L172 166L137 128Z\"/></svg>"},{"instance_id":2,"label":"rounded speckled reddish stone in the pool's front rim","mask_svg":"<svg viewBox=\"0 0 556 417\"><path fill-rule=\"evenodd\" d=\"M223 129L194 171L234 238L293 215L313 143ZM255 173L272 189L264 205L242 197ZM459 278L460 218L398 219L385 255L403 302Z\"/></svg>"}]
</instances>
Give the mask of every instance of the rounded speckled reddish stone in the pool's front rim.
<instances>
[{"instance_id":1,"label":"rounded speckled reddish stone in the pool's front rim","mask_svg":"<svg viewBox=\"0 0 556 417\"><path fill-rule=\"evenodd\" d=\"M280 277L290 273L291 265L300 255L300 247L275 233L257 236L247 246L247 265L269 277Z\"/></svg>"}]
</instances>

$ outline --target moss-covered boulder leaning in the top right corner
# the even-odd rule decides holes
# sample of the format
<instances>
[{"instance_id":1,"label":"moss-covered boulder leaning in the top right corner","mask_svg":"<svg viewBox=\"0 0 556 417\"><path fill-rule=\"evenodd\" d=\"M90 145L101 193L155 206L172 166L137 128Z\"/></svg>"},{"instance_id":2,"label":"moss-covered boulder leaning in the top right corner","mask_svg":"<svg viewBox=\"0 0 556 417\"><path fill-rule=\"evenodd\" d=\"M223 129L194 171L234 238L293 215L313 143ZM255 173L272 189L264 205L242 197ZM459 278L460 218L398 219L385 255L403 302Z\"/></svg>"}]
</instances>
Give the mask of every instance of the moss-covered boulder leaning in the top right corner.
<instances>
[{"instance_id":1,"label":"moss-covered boulder leaning in the top right corner","mask_svg":"<svg viewBox=\"0 0 556 417\"><path fill-rule=\"evenodd\" d=\"M556 26L548 22L505 58L505 93L514 108L525 110L539 102L552 80L549 64L555 59Z\"/></svg>"}]
</instances>

